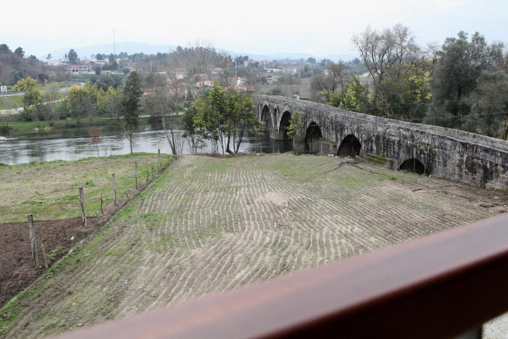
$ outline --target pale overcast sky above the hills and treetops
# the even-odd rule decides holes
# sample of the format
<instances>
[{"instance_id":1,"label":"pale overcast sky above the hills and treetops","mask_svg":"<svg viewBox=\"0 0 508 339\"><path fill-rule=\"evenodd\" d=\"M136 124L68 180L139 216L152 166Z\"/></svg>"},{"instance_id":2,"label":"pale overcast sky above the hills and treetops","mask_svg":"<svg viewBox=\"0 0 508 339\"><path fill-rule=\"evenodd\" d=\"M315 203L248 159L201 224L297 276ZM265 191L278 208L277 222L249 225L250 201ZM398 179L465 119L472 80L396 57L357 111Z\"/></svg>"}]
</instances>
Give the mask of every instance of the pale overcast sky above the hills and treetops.
<instances>
[{"instance_id":1,"label":"pale overcast sky above the hills and treetops","mask_svg":"<svg viewBox=\"0 0 508 339\"><path fill-rule=\"evenodd\" d=\"M507 0L301 1L7 1L0 11L0 43L45 55L62 47L135 41L187 46L196 39L216 48L265 54L318 56L351 52L351 36L402 23L419 43L479 31L508 41Z\"/></svg>"}]
</instances>

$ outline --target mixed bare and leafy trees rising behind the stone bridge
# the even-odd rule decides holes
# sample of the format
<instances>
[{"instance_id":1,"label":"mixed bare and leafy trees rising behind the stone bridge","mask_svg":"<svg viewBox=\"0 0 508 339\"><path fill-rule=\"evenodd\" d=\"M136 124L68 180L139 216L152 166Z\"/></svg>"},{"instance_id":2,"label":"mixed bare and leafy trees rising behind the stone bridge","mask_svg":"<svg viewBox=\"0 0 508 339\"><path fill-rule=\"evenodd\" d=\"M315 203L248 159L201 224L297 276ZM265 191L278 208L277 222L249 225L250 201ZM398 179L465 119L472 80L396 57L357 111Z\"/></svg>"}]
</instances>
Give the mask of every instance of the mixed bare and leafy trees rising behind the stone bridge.
<instances>
[{"instance_id":1,"label":"mixed bare and leafy trees rising behind the stone bridge","mask_svg":"<svg viewBox=\"0 0 508 339\"><path fill-rule=\"evenodd\" d=\"M441 47L421 47L401 24L367 27L352 43L368 81L362 84L341 61L328 64L312 78L314 100L506 139L508 115L501 112L508 111L508 55L502 43L460 32Z\"/></svg>"}]
</instances>

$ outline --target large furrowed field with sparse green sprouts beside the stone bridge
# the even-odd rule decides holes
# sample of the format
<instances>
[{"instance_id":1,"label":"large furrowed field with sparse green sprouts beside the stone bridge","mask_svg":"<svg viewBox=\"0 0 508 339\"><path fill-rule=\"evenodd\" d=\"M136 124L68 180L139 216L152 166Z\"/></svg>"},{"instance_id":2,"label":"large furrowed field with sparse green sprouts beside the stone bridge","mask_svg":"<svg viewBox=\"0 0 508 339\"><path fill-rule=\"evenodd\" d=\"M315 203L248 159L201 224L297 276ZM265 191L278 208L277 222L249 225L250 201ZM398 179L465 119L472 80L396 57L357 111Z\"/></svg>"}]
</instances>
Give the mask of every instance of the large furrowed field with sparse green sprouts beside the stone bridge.
<instances>
[{"instance_id":1,"label":"large furrowed field with sparse green sprouts beside the stone bridge","mask_svg":"<svg viewBox=\"0 0 508 339\"><path fill-rule=\"evenodd\" d=\"M487 218L506 201L337 158L184 156L15 301L3 336L166 307Z\"/></svg>"}]
</instances>

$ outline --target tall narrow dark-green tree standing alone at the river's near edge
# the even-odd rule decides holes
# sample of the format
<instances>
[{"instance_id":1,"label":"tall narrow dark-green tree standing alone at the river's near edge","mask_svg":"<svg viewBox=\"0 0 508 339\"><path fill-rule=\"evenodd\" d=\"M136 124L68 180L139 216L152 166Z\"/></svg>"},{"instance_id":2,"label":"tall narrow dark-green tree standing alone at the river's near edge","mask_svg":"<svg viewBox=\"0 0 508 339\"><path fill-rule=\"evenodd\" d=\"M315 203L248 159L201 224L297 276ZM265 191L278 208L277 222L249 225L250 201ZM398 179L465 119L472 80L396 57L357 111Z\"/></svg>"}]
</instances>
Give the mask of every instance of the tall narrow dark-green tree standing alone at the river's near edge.
<instances>
[{"instance_id":1,"label":"tall narrow dark-green tree standing alone at the river's near edge","mask_svg":"<svg viewBox=\"0 0 508 339\"><path fill-rule=\"evenodd\" d=\"M129 143L132 151L132 133L138 127L138 109L141 97L141 81L137 72L131 72L123 86L123 110L125 112L124 127L129 133Z\"/></svg>"}]
</instances>

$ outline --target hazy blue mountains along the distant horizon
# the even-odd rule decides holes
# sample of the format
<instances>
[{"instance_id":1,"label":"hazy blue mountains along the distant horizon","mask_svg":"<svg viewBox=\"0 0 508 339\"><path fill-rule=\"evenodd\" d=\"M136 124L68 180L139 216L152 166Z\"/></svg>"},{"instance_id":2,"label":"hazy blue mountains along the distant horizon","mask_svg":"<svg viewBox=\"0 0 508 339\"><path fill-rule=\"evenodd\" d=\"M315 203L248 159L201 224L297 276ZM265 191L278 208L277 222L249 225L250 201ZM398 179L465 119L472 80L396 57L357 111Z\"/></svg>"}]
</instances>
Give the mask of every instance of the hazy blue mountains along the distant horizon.
<instances>
[{"instance_id":1,"label":"hazy blue mountains along the distant horizon","mask_svg":"<svg viewBox=\"0 0 508 339\"><path fill-rule=\"evenodd\" d=\"M128 54L134 54L134 53L146 53L146 54L157 54L158 52L161 53L168 53L176 49L177 46L175 45L150 45L150 44L143 44L139 42L131 42L131 41L125 41L125 42L119 42L116 44L116 53L120 52L127 52ZM59 59L62 58L65 53L68 53L71 48L74 48L74 50L78 53L79 57L90 57L92 55L95 55L97 53L102 54L110 54L113 53L113 44L102 44L102 45L93 45L93 46L87 46L87 47L67 47L67 48L60 48L53 52L51 52L51 55L53 56L53 59ZM330 59L332 61L337 61L339 59L342 60L350 60L358 56L355 52L348 52L348 53L342 53L342 54L328 54L328 55L322 55L317 56L310 53L270 53L270 54L252 54L252 53L238 53L233 51L227 51L231 56L238 56L238 55L248 55L250 59L261 61L261 60L278 60L278 59L299 59L304 58L307 59L308 57L313 57L316 60L321 60L323 58ZM44 59L44 57L41 57L41 59Z\"/></svg>"}]
</instances>

